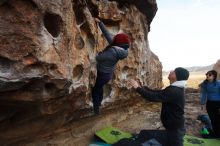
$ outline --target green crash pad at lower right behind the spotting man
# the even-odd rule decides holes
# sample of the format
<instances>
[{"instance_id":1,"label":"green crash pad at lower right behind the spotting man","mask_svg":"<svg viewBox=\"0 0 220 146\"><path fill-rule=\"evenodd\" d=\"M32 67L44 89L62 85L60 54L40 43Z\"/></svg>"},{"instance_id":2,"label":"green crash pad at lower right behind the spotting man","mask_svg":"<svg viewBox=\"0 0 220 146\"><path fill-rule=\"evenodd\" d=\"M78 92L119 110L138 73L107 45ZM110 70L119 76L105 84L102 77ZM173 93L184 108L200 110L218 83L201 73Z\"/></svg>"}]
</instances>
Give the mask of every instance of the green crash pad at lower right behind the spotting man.
<instances>
[{"instance_id":1,"label":"green crash pad at lower right behind the spotting man","mask_svg":"<svg viewBox=\"0 0 220 146\"><path fill-rule=\"evenodd\" d=\"M184 137L184 146L220 146L220 140L186 135Z\"/></svg>"}]
</instances>

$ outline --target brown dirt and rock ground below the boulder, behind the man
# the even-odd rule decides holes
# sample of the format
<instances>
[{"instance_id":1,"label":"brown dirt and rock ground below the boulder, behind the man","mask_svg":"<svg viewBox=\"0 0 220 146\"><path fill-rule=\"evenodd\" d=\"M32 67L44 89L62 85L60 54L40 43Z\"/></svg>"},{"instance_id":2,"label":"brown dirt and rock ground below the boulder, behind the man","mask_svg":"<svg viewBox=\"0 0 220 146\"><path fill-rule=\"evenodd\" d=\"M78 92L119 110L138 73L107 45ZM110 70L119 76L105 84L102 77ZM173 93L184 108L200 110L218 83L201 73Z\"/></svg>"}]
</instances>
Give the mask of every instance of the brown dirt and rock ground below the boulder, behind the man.
<instances>
[{"instance_id":1,"label":"brown dirt and rock ground below the boulder, behind the man","mask_svg":"<svg viewBox=\"0 0 220 146\"><path fill-rule=\"evenodd\" d=\"M200 110L198 89L186 90L185 118L187 134L200 136L202 127L197 116ZM115 110L103 110L99 116L89 116L71 122L51 134L37 138L27 146L88 146L94 133L104 127L113 126L130 133L143 129L163 129L160 122L160 104L140 100L134 106Z\"/></svg>"}]
</instances>

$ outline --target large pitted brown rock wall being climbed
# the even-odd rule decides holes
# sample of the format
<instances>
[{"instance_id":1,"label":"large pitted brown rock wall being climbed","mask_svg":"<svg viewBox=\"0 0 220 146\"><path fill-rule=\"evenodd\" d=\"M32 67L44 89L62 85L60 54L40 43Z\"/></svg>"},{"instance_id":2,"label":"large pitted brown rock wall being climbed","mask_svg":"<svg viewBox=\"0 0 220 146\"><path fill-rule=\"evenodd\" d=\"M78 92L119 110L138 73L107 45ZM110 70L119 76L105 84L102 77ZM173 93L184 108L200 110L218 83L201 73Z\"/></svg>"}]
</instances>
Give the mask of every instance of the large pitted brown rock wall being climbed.
<instances>
[{"instance_id":1,"label":"large pitted brown rock wall being climbed","mask_svg":"<svg viewBox=\"0 0 220 146\"><path fill-rule=\"evenodd\" d=\"M3 0L0 2L0 142L13 144L89 115L95 55L107 42L93 17L134 42L105 86L103 108L134 104L126 85L162 87L148 43L156 0Z\"/></svg>"}]
</instances>

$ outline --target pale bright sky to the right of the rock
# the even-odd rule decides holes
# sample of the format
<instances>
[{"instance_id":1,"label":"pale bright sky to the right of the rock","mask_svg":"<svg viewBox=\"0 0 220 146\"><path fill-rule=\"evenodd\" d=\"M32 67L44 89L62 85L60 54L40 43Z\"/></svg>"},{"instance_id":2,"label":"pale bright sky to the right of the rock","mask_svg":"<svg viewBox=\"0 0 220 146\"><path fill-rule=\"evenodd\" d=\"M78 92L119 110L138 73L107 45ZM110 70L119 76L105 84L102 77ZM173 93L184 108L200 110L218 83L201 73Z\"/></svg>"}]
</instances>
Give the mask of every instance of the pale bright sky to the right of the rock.
<instances>
[{"instance_id":1,"label":"pale bright sky to the right of the rock","mask_svg":"<svg viewBox=\"0 0 220 146\"><path fill-rule=\"evenodd\" d=\"M163 70L220 59L220 0L157 0L149 43Z\"/></svg>"}]
</instances>

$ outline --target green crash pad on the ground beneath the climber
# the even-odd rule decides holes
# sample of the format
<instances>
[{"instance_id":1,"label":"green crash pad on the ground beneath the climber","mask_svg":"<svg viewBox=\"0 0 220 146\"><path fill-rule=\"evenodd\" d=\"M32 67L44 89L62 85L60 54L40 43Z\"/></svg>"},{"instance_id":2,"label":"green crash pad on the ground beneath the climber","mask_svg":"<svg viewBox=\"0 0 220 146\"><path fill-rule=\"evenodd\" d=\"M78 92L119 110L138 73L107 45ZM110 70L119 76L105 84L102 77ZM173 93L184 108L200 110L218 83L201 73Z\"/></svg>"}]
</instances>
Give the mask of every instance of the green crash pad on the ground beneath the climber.
<instances>
[{"instance_id":1,"label":"green crash pad on the ground beneath the climber","mask_svg":"<svg viewBox=\"0 0 220 146\"><path fill-rule=\"evenodd\" d=\"M123 132L117 128L107 127L95 133L100 139L108 144L114 144L123 138L131 138L132 135L127 132Z\"/></svg>"}]
</instances>

